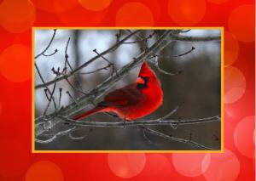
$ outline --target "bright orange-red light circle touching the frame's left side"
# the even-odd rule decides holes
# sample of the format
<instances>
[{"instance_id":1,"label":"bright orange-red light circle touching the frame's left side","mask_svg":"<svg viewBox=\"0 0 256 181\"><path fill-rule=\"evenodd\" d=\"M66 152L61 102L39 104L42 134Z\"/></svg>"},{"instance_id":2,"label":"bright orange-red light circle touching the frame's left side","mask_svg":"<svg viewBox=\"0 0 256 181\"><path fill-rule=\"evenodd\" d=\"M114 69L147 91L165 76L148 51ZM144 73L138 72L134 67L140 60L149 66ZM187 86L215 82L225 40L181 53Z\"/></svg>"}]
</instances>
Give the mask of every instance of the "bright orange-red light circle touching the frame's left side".
<instances>
[{"instance_id":1,"label":"bright orange-red light circle touching the frame's left side","mask_svg":"<svg viewBox=\"0 0 256 181\"><path fill-rule=\"evenodd\" d=\"M31 78L31 49L14 44L0 54L0 73L11 82L25 82Z\"/></svg>"}]
</instances>

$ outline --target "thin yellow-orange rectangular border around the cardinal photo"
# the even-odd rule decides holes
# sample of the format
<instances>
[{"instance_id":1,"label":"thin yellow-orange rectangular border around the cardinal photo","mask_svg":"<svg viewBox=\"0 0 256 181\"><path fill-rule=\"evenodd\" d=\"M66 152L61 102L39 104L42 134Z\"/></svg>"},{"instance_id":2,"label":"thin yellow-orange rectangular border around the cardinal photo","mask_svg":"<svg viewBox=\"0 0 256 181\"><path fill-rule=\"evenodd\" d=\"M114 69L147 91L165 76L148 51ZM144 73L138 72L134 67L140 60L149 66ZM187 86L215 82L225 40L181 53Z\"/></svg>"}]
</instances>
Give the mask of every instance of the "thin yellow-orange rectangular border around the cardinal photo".
<instances>
[{"instance_id":1,"label":"thin yellow-orange rectangular border around the cardinal photo","mask_svg":"<svg viewBox=\"0 0 256 181\"><path fill-rule=\"evenodd\" d=\"M35 51L35 30L173 30L173 29L196 29L196 30L220 30L221 31L221 146L220 150L35 150L35 71L34 71L34 51ZM33 26L32 27L32 153L224 153L224 26L193 26L193 27L59 27L59 26Z\"/></svg>"}]
</instances>

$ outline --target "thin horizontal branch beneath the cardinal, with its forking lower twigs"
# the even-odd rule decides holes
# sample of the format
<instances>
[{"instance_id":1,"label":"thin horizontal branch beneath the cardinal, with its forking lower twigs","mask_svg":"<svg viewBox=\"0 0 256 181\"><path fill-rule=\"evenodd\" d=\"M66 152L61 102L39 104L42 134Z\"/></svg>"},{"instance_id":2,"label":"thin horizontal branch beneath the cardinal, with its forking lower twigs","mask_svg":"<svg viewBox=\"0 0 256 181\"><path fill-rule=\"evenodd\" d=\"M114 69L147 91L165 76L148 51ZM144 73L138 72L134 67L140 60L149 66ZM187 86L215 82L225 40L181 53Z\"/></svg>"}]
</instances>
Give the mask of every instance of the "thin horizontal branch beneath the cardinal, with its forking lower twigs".
<instances>
[{"instance_id":1,"label":"thin horizontal branch beneath the cardinal, with its forking lower twigs","mask_svg":"<svg viewBox=\"0 0 256 181\"><path fill-rule=\"evenodd\" d=\"M164 139L168 139L171 141L176 141L176 142L180 142L183 144L190 144L190 145L200 148L202 150L219 150L219 149L213 149L213 148L207 147L205 145L196 143L195 141L192 141L191 134L189 136L189 139L180 139L180 138L166 135L165 133L160 133L151 128L145 127L145 126L150 126L150 125L151 126L152 125L170 125L170 124L171 125L173 125L173 124L185 125L185 124L206 123L206 122L220 122L219 116L212 116L212 117L195 119L195 120L160 121L159 119L157 119L157 120L137 121L137 122L83 122L83 121L75 121L72 119L68 119L63 116L60 116L60 118L62 119L63 122L67 122L68 125L72 125L73 127L69 128L67 130L55 133L50 139L45 139L45 140L35 139L35 141L40 144L48 144L48 143L54 141L55 139L57 139L58 137L61 137L61 136L67 135L67 134L69 135L69 137L71 139L84 139L85 136L87 136L87 134L82 137L73 137L72 136L71 133L74 130L76 130L77 127L119 127L119 128L138 127L139 129L143 130L143 133L147 132L147 133L151 133L151 134L160 136Z\"/></svg>"}]
</instances>

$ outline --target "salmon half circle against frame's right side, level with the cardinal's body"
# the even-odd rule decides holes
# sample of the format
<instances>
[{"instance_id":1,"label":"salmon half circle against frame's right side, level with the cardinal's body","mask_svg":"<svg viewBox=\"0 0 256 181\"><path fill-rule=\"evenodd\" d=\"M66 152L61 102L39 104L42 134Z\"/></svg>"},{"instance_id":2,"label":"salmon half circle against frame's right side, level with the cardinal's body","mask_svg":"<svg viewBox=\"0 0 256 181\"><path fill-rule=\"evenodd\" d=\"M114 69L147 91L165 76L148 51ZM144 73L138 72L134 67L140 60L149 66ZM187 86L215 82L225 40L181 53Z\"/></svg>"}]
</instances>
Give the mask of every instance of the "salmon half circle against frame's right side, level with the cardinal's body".
<instances>
[{"instance_id":1,"label":"salmon half circle against frame's right side, level with the cardinal's body","mask_svg":"<svg viewBox=\"0 0 256 181\"><path fill-rule=\"evenodd\" d=\"M224 104L236 102L245 93L246 78L234 66L224 68Z\"/></svg>"}]
</instances>

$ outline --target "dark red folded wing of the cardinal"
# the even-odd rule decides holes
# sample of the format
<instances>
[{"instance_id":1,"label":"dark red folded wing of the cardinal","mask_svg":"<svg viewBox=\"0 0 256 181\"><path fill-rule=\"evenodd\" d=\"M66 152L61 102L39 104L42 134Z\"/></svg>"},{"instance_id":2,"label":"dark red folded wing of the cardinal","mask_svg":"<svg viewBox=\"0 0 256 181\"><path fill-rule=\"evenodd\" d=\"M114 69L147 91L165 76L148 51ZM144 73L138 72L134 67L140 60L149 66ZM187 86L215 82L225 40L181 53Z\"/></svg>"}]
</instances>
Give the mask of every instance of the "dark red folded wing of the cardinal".
<instances>
[{"instance_id":1,"label":"dark red folded wing of the cardinal","mask_svg":"<svg viewBox=\"0 0 256 181\"><path fill-rule=\"evenodd\" d=\"M145 98L145 95L136 88L136 84L114 90L105 97L100 105L129 106L137 105Z\"/></svg>"}]
</instances>

